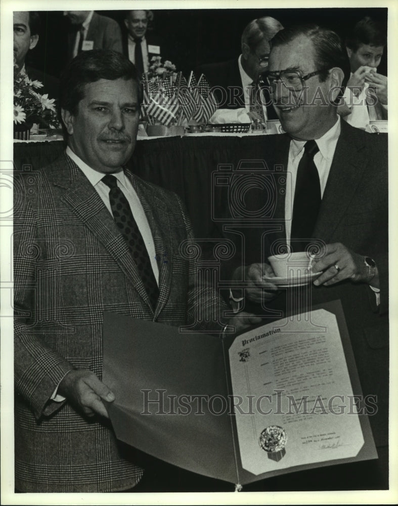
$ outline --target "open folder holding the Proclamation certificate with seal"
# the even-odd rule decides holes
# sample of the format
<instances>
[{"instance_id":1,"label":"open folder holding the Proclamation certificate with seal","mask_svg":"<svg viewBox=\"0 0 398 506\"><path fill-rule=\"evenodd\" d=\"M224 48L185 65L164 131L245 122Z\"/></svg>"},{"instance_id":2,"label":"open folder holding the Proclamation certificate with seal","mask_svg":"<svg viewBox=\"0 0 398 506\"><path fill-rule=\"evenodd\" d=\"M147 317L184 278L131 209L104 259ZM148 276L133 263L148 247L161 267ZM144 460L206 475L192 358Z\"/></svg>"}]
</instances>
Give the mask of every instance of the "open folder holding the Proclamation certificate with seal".
<instances>
[{"instance_id":1,"label":"open folder holding the Proclamation certificate with seal","mask_svg":"<svg viewBox=\"0 0 398 506\"><path fill-rule=\"evenodd\" d=\"M377 458L339 302L223 339L109 312L103 333L112 425L146 453L242 485Z\"/></svg>"}]
</instances>

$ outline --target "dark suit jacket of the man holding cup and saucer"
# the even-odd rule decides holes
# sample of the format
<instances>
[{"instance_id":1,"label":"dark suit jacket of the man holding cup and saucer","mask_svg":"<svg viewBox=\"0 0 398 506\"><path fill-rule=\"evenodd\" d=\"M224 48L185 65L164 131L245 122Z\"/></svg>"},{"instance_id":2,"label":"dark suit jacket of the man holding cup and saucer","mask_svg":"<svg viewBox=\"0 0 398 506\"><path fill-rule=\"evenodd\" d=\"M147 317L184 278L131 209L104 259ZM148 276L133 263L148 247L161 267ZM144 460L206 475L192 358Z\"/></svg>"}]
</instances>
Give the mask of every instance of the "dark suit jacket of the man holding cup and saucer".
<instances>
[{"instance_id":1,"label":"dark suit jacket of the man holding cup and saucer","mask_svg":"<svg viewBox=\"0 0 398 506\"><path fill-rule=\"evenodd\" d=\"M236 220L233 227L244 235L243 263L246 265L267 262L267 257L272 254L273 242L280 240L283 243L286 240L284 189L290 138L287 134L273 137L272 142L267 144L269 151L263 156L267 160L269 174L275 176L275 186L269 186L267 192L259 190L256 193L254 189L250 198L246 199L252 206L252 212L267 206L267 202L272 203L268 207L273 217L247 228L244 228L244 223L248 220L243 218ZM380 307L377 308L375 295L365 283L344 280L332 286L312 286L311 292L313 305L341 301L363 393L377 396L377 413L369 419L378 448L388 442L387 162L387 136L368 134L341 121L341 135L313 235L326 244L341 242L357 254L370 256L376 261L380 276ZM279 230L272 231L272 226ZM229 238L234 236L238 251L242 251L242 239L238 239L237 233ZM242 262L241 259L240 256L235 266ZM293 295L291 291L282 290L277 299L267 306L286 312L288 298ZM245 308L259 310L249 304ZM359 473L358 480L362 479L361 486L367 488L365 471L361 476Z\"/></svg>"}]
</instances>

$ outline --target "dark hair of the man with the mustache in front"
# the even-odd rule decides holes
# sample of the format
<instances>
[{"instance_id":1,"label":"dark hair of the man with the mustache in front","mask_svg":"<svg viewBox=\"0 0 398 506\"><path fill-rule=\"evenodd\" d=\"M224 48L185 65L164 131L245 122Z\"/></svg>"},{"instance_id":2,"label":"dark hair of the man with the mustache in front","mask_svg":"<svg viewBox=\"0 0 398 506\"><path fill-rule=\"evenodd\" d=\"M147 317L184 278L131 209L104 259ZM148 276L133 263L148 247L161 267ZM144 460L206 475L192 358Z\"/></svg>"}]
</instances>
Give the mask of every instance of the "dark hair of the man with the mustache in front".
<instances>
[{"instance_id":1,"label":"dark hair of the man with the mustache in front","mask_svg":"<svg viewBox=\"0 0 398 506\"><path fill-rule=\"evenodd\" d=\"M121 53L111 49L83 51L65 68L60 79L59 112L77 113L77 106L84 98L84 86L100 79L132 79L137 82L139 102L141 85L136 67Z\"/></svg>"}]
</instances>

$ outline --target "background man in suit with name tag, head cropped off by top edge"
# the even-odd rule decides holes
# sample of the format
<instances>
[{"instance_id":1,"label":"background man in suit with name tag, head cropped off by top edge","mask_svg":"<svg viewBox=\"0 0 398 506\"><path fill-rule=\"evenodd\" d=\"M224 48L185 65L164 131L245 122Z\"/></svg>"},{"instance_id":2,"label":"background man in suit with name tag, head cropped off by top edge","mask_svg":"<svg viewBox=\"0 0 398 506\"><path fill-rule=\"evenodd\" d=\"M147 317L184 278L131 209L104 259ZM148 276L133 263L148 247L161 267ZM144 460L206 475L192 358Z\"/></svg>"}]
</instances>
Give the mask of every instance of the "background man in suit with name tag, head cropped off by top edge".
<instances>
[{"instance_id":1,"label":"background man in suit with name tag, head cropped off by top edge","mask_svg":"<svg viewBox=\"0 0 398 506\"><path fill-rule=\"evenodd\" d=\"M122 52L121 31L118 23L94 11L64 11L70 21L68 32L68 59L81 51L113 49Z\"/></svg>"}]
</instances>

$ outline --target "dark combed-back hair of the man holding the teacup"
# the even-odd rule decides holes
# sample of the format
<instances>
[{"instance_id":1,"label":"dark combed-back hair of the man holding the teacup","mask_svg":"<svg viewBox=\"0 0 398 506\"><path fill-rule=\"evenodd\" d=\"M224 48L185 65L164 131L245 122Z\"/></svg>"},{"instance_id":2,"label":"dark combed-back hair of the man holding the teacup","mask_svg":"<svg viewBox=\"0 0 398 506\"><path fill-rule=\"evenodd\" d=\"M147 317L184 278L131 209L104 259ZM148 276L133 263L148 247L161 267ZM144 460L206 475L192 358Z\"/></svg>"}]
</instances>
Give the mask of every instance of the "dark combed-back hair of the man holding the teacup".
<instances>
[{"instance_id":1,"label":"dark combed-back hair of the man holding the teacup","mask_svg":"<svg viewBox=\"0 0 398 506\"><path fill-rule=\"evenodd\" d=\"M288 44L300 35L305 35L314 44L316 68L313 70L325 69L319 74L320 81L327 79L329 69L339 67L344 72L342 82L342 87L344 87L350 76L349 60L340 37L334 31L315 24L292 26L275 35L270 43L271 49Z\"/></svg>"}]
</instances>

